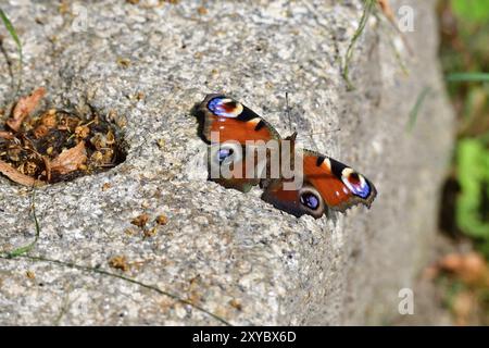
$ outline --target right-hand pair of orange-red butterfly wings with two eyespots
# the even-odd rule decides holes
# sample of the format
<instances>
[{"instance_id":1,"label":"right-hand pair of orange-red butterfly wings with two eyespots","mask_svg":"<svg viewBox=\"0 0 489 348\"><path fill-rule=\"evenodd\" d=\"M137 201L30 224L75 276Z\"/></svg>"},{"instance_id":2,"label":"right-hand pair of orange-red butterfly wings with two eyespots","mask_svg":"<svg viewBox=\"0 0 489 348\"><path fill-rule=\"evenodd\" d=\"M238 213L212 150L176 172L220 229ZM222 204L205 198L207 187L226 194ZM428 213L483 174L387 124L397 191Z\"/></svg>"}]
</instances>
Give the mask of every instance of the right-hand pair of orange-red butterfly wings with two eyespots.
<instances>
[{"instance_id":1,"label":"right-hand pair of orange-red butterfly wings with two eyespots","mask_svg":"<svg viewBox=\"0 0 489 348\"><path fill-rule=\"evenodd\" d=\"M303 184L287 190L284 179L269 183L262 199L292 215L321 217L327 208L344 212L355 204L371 207L377 195L375 186L350 166L321 153L302 153Z\"/></svg>"}]
</instances>

